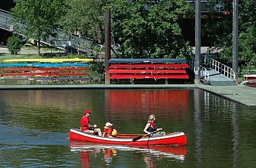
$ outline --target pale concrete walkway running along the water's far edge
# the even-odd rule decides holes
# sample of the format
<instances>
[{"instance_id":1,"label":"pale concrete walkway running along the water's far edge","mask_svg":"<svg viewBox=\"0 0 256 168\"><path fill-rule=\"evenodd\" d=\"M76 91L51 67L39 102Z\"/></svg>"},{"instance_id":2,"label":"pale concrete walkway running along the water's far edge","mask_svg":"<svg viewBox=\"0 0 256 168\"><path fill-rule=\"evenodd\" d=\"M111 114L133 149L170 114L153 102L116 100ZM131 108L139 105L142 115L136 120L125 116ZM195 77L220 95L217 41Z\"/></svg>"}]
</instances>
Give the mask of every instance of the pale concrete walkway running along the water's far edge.
<instances>
[{"instance_id":1,"label":"pale concrete walkway running along the water's far edge","mask_svg":"<svg viewBox=\"0 0 256 168\"><path fill-rule=\"evenodd\" d=\"M256 107L256 88L248 86L208 86L204 84L86 84L86 85L0 85L0 89L203 89L246 106Z\"/></svg>"}]
</instances>

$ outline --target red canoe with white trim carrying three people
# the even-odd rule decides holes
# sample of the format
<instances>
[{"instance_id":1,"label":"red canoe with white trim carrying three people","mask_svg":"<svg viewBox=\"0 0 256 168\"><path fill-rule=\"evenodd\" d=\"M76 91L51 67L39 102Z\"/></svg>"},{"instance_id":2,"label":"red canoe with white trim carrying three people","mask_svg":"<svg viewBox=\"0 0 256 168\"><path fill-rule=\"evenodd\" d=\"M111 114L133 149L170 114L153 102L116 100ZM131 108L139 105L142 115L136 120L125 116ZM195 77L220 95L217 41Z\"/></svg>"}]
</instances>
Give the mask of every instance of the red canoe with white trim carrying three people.
<instances>
[{"instance_id":1,"label":"red canoe with white trim carrying three people","mask_svg":"<svg viewBox=\"0 0 256 168\"><path fill-rule=\"evenodd\" d=\"M95 142L101 144L125 144L125 145L178 145L184 146L187 142L187 137L183 132L166 133L157 137L142 137L138 141L132 142L132 139L142 134L118 134L115 138L100 137L98 135L86 134L79 129L71 129L69 139Z\"/></svg>"}]
</instances>

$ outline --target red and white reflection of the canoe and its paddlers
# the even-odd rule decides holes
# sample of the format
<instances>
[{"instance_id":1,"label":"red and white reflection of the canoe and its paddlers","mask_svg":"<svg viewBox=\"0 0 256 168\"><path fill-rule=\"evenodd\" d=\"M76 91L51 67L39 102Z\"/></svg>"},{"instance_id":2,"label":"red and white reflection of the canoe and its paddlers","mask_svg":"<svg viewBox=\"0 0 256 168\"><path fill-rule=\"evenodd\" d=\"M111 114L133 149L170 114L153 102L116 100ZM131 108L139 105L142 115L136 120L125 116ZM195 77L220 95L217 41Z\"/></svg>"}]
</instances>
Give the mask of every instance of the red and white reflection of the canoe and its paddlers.
<instances>
[{"instance_id":1,"label":"red and white reflection of the canoe and its paddlers","mask_svg":"<svg viewBox=\"0 0 256 168\"><path fill-rule=\"evenodd\" d=\"M118 155L118 151L132 151L133 153L141 153L147 167L155 167L157 158L171 158L179 162L183 162L187 150L184 146L120 146L111 144L94 144L70 141L71 151L81 152L82 167L90 167L90 158L92 154L103 153L106 165L110 165L113 157ZM90 153L90 155L89 155Z\"/></svg>"}]
</instances>

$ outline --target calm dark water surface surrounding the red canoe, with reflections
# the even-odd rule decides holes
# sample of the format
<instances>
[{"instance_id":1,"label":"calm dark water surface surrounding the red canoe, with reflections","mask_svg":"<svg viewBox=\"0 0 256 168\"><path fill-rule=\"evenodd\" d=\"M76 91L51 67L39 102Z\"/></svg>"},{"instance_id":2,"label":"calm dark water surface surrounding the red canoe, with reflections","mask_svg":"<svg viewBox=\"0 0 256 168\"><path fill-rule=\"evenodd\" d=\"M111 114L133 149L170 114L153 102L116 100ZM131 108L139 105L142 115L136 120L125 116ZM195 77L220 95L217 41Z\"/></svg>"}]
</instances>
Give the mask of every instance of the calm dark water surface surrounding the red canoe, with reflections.
<instances>
[{"instance_id":1,"label":"calm dark water surface surrounding the red canoe, with reflections","mask_svg":"<svg viewBox=\"0 0 256 168\"><path fill-rule=\"evenodd\" d=\"M91 123L143 134L150 114L184 147L86 144L68 139L84 109ZM256 109L200 89L0 91L0 167L253 167Z\"/></svg>"}]
</instances>

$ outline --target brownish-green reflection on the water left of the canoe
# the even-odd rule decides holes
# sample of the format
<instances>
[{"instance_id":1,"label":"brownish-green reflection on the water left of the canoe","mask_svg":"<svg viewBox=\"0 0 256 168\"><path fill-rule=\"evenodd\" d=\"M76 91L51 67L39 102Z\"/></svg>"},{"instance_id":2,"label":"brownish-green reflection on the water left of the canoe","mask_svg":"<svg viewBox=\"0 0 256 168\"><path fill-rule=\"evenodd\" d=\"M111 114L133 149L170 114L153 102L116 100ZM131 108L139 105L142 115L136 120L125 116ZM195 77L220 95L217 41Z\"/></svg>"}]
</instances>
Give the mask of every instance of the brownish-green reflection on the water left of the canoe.
<instances>
[{"instance_id":1,"label":"brownish-green reflection on the water left of the canoe","mask_svg":"<svg viewBox=\"0 0 256 168\"><path fill-rule=\"evenodd\" d=\"M10 114L9 116L19 118L12 123L17 122L17 125L26 128L58 132L79 126L84 107L88 107L90 100L93 100L88 98L86 93L92 95L93 91L78 89L0 91L1 100L4 102L3 109ZM90 104L88 108L91 107ZM11 118L5 119L8 123Z\"/></svg>"}]
</instances>

